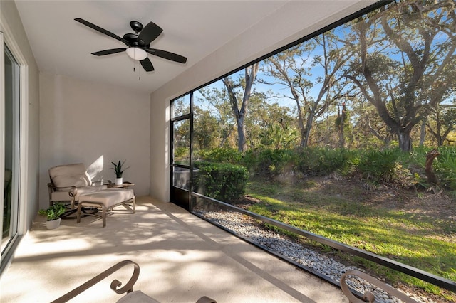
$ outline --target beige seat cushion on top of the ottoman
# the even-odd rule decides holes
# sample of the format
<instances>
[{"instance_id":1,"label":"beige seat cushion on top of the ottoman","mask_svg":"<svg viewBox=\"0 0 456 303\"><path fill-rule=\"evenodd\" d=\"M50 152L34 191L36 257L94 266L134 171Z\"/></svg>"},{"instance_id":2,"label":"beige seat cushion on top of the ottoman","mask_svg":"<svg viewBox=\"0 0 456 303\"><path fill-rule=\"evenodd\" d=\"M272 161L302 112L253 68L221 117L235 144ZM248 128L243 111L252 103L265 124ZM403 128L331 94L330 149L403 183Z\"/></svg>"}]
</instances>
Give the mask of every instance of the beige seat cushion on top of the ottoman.
<instances>
[{"instance_id":1,"label":"beige seat cushion on top of the ottoman","mask_svg":"<svg viewBox=\"0 0 456 303\"><path fill-rule=\"evenodd\" d=\"M102 203L106 208L128 201L135 197L133 189L108 188L94 193L84 193L79 195L79 203L84 203L85 206L90 206L90 202ZM94 204L94 206L96 206Z\"/></svg>"}]
</instances>

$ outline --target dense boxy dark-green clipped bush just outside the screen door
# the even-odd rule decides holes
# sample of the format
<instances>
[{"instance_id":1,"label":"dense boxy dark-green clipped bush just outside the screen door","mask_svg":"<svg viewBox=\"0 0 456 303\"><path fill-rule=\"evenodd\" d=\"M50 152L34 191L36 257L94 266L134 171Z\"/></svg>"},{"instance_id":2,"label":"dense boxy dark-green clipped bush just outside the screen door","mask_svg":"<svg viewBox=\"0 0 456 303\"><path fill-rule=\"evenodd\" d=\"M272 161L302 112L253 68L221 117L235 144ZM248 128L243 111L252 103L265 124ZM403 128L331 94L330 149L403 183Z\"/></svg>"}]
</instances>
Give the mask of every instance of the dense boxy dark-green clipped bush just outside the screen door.
<instances>
[{"instance_id":1,"label":"dense boxy dark-green clipped bush just outside the screen door","mask_svg":"<svg viewBox=\"0 0 456 303\"><path fill-rule=\"evenodd\" d=\"M249 178L244 166L195 162L195 167L199 169L195 174L195 184L198 191L205 196L225 202L244 196Z\"/></svg>"}]
</instances>

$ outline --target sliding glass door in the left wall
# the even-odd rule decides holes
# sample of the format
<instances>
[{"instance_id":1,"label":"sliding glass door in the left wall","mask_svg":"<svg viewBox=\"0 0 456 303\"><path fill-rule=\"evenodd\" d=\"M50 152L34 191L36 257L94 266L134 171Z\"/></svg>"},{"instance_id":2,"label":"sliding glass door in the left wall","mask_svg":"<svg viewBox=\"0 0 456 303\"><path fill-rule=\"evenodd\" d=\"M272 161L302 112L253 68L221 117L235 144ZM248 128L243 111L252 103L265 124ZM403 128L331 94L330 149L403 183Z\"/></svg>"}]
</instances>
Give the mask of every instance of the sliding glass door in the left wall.
<instances>
[{"instance_id":1,"label":"sliding glass door in the left wall","mask_svg":"<svg viewBox=\"0 0 456 303\"><path fill-rule=\"evenodd\" d=\"M4 107L0 121L4 123L4 197L1 224L1 256L19 235L19 155L20 152L20 66L4 45ZM1 99L0 99L1 100ZM1 102L0 102L1 105ZM0 128L1 129L1 128ZM0 141L1 142L1 141Z\"/></svg>"}]
</instances>

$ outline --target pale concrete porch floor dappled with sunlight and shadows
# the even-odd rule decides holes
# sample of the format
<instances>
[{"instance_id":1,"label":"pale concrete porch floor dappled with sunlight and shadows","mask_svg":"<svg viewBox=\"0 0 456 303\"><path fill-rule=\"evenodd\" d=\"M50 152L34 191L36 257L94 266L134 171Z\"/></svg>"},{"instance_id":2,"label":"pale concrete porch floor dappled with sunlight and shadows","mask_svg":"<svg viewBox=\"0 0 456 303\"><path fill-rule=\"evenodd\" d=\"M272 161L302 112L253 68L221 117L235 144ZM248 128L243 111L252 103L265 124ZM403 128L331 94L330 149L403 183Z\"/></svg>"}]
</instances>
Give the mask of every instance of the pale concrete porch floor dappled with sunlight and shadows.
<instances>
[{"instance_id":1,"label":"pale concrete porch floor dappled with sunlight and shadows","mask_svg":"<svg viewBox=\"0 0 456 303\"><path fill-rule=\"evenodd\" d=\"M175 206L139 197L135 215L120 206L105 228L94 217L46 230L38 216L0 280L0 302L50 302L122 260L140 265L133 287L160 302L348 302L340 289ZM110 282L124 267L71 302L115 302Z\"/></svg>"}]
</instances>

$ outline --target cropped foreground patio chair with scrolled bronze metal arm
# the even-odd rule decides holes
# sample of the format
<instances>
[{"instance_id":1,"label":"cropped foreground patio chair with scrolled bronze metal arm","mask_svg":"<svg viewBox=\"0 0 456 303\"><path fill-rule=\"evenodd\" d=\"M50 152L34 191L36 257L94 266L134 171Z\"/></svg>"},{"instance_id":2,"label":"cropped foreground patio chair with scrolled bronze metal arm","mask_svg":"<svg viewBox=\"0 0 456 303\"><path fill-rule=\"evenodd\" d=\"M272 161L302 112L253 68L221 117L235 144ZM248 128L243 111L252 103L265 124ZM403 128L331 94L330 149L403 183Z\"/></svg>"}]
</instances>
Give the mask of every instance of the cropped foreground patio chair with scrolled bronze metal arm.
<instances>
[{"instance_id":1,"label":"cropped foreground patio chair with scrolled bronze metal arm","mask_svg":"<svg viewBox=\"0 0 456 303\"><path fill-rule=\"evenodd\" d=\"M125 294L125 296L121 297L117 302L118 303L160 303L157 300L153 299L152 297L147 296L147 294L144 294L140 290L136 290L133 292L133 285L135 285L135 282L138 280L138 277L140 275L140 266L137 263L130 261L130 260L124 260L122 262L118 262L116 265L113 265L112 267L108 268L108 270L105 270L104 272L100 273L99 275L93 277L92 279L90 279L86 283L84 283L83 285L76 287L75 289L71 290L71 292L63 294L62 297L55 299L51 303L68 302L68 300L73 299L74 297L76 297L78 294L81 294L82 292L85 292L90 287L93 287L93 285L95 285L98 282L100 282L101 280L105 279L105 277L112 275L114 272L120 270L120 268L127 266L127 265L133 265L133 275L130 277L130 280L128 280L128 282L125 284L125 286L121 287L123 285L123 283L120 282L119 280L113 280L113 282L111 282L111 284L110 284L110 288L113 289L113 291L115 293ZM209 297L201 297L197 300L197 303L217 303L217 302L214 299L211 299Z\"/></svg>"}]
</instances>

